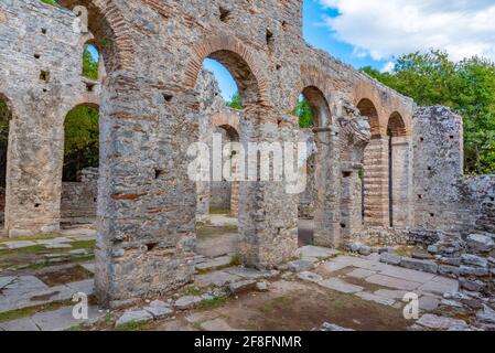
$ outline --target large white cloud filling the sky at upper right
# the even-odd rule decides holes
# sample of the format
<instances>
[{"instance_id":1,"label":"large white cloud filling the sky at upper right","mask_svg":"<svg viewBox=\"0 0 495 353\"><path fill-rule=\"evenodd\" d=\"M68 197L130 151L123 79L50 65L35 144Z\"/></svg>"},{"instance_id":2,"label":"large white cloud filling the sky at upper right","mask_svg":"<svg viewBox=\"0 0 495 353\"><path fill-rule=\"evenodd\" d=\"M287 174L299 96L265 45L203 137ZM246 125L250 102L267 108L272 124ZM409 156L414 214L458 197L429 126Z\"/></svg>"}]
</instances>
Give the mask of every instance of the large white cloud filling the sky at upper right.
<instances>
[{"instance_id":1,"label":"large white cloud filling the sky at upper right","mask_svg":"<svg viewBox=\"0 0 495 353\"><path fill-rule=\"evenodd\" d=\"M494 0L320 0L340 15L325 19L355 53L374 60L430 49L455 61L482 55L495 61Z\"/></svg>"}]
</instances>

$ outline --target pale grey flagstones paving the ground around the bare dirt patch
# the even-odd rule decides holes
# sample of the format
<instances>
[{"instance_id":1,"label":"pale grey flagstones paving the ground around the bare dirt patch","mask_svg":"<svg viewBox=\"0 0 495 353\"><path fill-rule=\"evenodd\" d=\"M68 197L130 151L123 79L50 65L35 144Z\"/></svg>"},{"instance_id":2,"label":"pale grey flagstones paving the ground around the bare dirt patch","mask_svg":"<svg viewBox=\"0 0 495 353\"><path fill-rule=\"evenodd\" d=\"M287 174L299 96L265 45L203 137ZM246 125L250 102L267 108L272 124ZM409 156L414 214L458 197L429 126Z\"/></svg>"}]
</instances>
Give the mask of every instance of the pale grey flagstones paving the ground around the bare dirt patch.
<instances>
[{"instance_id":1,"label":"pale grey flagstones paving the ground around the bare dirt patch","mask_svg":"<svg viewBox=\"0 0 495 353\"><path fill-rule=\"evenodd\" d=\"M33 244L43 246L69 245L73 242L93 238L93 231L82 234L72 229L67 234L50 239L3 242L1 244L10 249L19 249L33 246ZM195 312L194 310L205 301L227 298L229 295L236 296L244 291L267 292L270 291L271 284L290 280L300 284L299 286L302 286L302 288L318 286L323 290L336 291L358 300L396 309L403 306L405 295L415 292L419 296L420 309L424 314L421 320L412 325L413 329L448 330L465 328L465 322L462 320L429 313L438 309L442 301L445 301L443 298L445 292L459 290L459 284L454 279L384 264L384 257L376 255L354 256L341 254L333 249L304 246L297 252L295 256L299 257L299 260L281 266L278 270L256 270L233 266L232 263L235 258L233 254L214 258L197 256L196 269L198 272L193 286L198 288L201 293L182 297L175 295L174 298L166 301L157 300L139 308L129 309L121 312L116 320L116 325L119 327L129 322L146 323L165 320L166 324L162 328L195 330L198 329L195 324L201 321L202 330L234 330L235 328L232 328L219 315L209 311ZM88 271L95 270L93 263L84 263L82 266ZM0 321L0 330L68 330L82 324L92 325L98 320L101 321L108 314L90 306L87 320L75 320L72 315L73 307L68 301L77 292L90 296L93 293L93 279L50 287L33 275L0 277L0 314L13 310L36 308L41 304L62 302L61 307L53 310L34 312L28 317L10 321ZM249 308L246 308L246 310L249 310ZM185 324L174 323L174 318L180 312L187 312ZM211 314L208 315L208 313ZM322 319L325 322L332 321L332 318Z\"/></svg>"}]
</instances>

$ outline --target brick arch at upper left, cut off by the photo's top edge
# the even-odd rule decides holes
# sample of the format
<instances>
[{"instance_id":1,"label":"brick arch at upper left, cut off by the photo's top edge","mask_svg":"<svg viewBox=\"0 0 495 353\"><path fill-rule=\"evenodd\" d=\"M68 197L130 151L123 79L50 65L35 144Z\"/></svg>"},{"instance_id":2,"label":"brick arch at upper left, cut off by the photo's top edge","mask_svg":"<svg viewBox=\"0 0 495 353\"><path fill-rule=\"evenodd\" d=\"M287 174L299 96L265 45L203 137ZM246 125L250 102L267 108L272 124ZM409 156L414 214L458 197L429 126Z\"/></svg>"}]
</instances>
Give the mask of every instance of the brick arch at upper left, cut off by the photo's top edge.
<instances>
[{"instance_id":1,"label":"brick arch at upper left, cut off by the photo's top edge","mask_svg":"<svg viewBox=\"0 0 495 353\"><path fill-rule=\"evenodd\" d=\"M133 67L133 42L130 36L129 25L121 14L117 0L60 0L58 3L67 9L76 6L84 6L88 9L89 29L94 28L94 32L111 34L114 51L111 60L107 57L108 68L131 71ZM111 32L111 33L108 33ZM99 50L104 52L100 47ZM108 69L110 71L110 69Z\"/></svg>"}]
</instances>

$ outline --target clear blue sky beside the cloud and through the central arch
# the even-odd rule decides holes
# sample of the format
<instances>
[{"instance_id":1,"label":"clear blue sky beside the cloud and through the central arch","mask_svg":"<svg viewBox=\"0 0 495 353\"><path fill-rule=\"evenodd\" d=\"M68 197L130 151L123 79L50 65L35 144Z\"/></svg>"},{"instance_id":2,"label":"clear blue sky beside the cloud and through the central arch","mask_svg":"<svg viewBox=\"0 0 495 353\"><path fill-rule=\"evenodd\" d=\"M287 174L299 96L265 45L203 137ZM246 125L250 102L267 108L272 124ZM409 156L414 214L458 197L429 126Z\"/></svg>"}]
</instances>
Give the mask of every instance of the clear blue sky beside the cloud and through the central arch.
<instances>
[{"instance_id":1,"label":"clear blue sky beside the cloud and through the central arch","mask_svg":"<svg viewBox=\"0 0 495 353\"><path fill-rule=\"evenodd\" d=\"M359 57L354 54L354 46L337 41L332 31L325 25L325 18L335 18L338 11L325 8L319 0L304 0L303 4L303 35L313 46L324 50L338 60L361 68L372 65L381 69L387 61L374 61L368 57ZM206 60L204 66L215 74L220 86L222 96L229 99L237 90L237 86L229 72L219 63L213 60Z\"/></svg>"}]
</instances>

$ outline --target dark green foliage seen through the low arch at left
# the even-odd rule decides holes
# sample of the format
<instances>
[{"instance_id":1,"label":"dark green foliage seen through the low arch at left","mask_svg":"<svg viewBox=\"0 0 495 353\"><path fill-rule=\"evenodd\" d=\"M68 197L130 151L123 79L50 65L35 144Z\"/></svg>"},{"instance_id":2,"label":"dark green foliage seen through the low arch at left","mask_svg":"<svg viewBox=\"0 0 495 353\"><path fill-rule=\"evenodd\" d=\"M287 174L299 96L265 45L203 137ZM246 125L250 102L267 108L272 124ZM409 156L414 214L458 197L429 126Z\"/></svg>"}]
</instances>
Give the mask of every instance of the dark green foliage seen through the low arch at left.
<instances>
[{"instance_id":1,"label":"dark green foliage seen through the low arch at left","mask_svg":"<svg viewBox=\"0 0 495 353\"><path fill-rule=\"evenodd\" d=\"M78 106L65 118L64 181L76 181L77 172L99 164L99 113Z\"/></svg>"}]
</instances>

